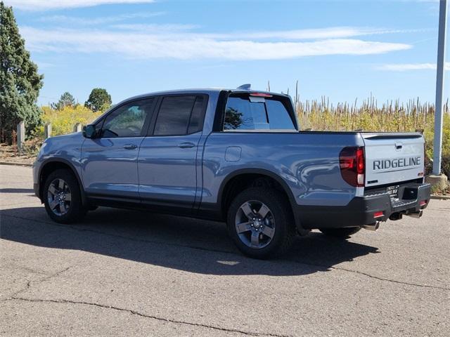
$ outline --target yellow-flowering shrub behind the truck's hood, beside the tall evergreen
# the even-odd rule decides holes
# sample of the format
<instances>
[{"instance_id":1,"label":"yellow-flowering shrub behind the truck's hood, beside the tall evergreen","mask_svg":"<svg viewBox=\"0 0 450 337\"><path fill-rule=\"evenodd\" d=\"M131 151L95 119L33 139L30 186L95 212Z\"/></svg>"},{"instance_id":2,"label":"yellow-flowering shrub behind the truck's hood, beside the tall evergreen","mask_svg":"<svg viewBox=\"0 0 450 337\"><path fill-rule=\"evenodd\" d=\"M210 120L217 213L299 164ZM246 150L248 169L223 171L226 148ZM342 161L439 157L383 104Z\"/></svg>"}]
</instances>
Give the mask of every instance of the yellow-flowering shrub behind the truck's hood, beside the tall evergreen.
<instances>
[{"instance_id":1,"label":"yellow-flowering shrub behind the truck's hood, beside the tall evergreen","mask_svg":"<svg viewBox=\"0 0 450 337\"><path fill-rule=\"evenodd\" d=\"M81 123L84 126L102 114L102 112L92 112L92 110L83 105L64 107L63 110L42 107L42 111L44 112L42 114L44 124L51 124L51 136L72 133L75 124ZM44 135L44 126L39 127L39 133L41 136Z\"/></svg>"}]
</instances>

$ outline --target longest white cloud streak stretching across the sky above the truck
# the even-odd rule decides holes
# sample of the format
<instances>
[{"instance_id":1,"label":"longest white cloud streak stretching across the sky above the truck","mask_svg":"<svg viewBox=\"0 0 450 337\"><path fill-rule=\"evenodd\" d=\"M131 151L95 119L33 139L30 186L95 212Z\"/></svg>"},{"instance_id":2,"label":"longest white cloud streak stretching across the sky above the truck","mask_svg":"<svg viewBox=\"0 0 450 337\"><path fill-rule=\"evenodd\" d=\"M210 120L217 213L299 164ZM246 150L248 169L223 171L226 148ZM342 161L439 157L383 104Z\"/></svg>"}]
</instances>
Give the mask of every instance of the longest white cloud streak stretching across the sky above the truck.
<instances>
[{"instance_id":1,"label":"longest white cloud streak stretching across the sky above the truck","mask_svg":"<svg viewBox=\"0 0 450 337\"><path fill-rule=\"evenodd\" d=\"M366 55L401 51L409 44L323 39L319 41L256 41L217 39L208 34L150 34L105 30L36 29L21 27L32 51L115 53L128 58L280 60L315 55ZM257 33L256 33L257 34Z\"/></svg>"}]
</instances>

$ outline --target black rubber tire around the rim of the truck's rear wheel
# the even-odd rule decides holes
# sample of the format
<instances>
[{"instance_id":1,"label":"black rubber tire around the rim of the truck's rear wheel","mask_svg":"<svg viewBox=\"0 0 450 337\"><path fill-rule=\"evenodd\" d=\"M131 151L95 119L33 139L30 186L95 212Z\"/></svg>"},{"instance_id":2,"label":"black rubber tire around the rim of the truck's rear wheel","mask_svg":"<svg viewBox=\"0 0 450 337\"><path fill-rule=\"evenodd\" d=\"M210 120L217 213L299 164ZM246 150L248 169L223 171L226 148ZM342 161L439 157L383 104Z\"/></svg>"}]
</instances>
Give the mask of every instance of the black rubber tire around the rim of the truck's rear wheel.
<instances>
[{"instance_id":1,"label":"black rubber tire around the rim of the truck's rear wheel","mask_svg":"<svg viewBox=\"0 0 450 337\"><path fill-rule=\"evenodd\" d=\"M273 221L273 224L271 223L274 227L274 232L271 233L273 237L266 243L266 246L263 246L262 248L252 248L245 244L236 229L236 219L240 216L240 213L238 212L242 213L242 211L240 211L241 206L248 201L257 201L266 205L269 208L267 217L270 217L270 221ZM248 218L247 216L245 217ZM243 222L245 222L245 220L243 220ZM281 256L288 251L293 242L293 238L296 235L295 221L288 199L283 193L266 187L250 187L248 190L240 192L240 194L231 201L227 213L226 224L233 242L243 254L250 258L266 259ZM255 228L252 228L250 232L246 233L250 233L251 235L254 230ZM262 232L259 232L259 235L259 237L264 237L265 239L269 238L265 237Z\"/></svg>"}]
</instances>

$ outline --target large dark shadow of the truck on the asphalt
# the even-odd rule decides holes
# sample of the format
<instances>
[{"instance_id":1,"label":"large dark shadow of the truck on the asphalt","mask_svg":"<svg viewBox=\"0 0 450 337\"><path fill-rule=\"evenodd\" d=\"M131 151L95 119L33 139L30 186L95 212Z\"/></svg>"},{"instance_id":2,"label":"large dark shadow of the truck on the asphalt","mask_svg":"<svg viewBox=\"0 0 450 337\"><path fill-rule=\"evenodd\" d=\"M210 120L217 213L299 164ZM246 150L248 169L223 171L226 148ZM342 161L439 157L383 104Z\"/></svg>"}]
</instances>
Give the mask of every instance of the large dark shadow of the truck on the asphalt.
<instances>
[{"instance_id":1,"label":"large dark shadow of the truck on the asphalt","mask_svg":"<svg viewBox=\"0 0 450 337\"><path fill-rule=\"evenodd\" d=\"M239 253L224 223L108 208L89 212L76 225L53 223L43 206L5 209L0 237L208 275L308 275L378 252L312 232L298 237L282 258L253 260Z\"/></svg>"}]
</instances>

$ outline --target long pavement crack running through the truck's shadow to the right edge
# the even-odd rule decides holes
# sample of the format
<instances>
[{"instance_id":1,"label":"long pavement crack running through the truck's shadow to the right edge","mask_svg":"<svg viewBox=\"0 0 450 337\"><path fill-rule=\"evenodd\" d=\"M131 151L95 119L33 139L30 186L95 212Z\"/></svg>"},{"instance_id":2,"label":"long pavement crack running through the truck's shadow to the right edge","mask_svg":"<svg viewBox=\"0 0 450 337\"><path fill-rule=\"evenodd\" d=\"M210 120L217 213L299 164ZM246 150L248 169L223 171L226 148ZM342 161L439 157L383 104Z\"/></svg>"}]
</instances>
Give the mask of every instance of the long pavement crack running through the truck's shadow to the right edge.
<instances>
[{"instance_id":1,"label":"long pavement crack running through the truck's shadow to the right edge","mask_svg":"<svg viewBox=\"0 0 450 337\"><path fill-rule=\"evenodd\" d=\"M214 252L217 252L217 253L229 253L229 254L232 254L232 255L236 255L236 253L234 253L233 251L224 251L224 250L221 250L221 249L208 249L208 248L203 248L203 247L199 247L199 246L191 246L191 245L188 245L188 244L172 244L170 242L160 242L160 241L155 241L155 240L138 239L138 238L134 238L134 237L127 237L127 236L120 235L120 234L111 234L111 233L101 232L101 231L98 231L98 230L79 228L79 227L73 226L73 225L58 225L57 223L51 223L49 221L34 220L34 219L25 218L25 217L21 217L21 216L11 216L9 214L3 214L3 216L9 216L11 218L19 218L19 219L23 219L23 220L34 221L34 222L37 222L37 223L44 223L46 225L52 225L52 226L57 226L57 227L68 228L68 229L71 229L71 230L76 230L78 232L94 232L96 234L106 235L106 236L109 236L109 237L117 237L117 238L120 238L120 239L127 239L127 240L134 241L134 242L143 242L143 243L149 243L149 244L163 244L163 245L166 245L166 246L184 247L184 248L188 248L188 249L198 249L200 251L214 251ZM378 277L378 276L370 275L370 274L368 274L366 272L360 272L358 270L347 269L347 268L344 268L344 267L335 267L333 265L320 265L320 264L317 264L317 263L307 263L307 262L303 262L303 261L299 261L299 260L285 260L285 261L288 261L290 263L298 263L298 264L302 264L302 265L309 265L309 266L312 266L312 267L323 267L323 268L326 268L326 269L341 270L341 271L344 271L344 272L353 272L355 274L364 275L366 277L371 277L373 279L378 279L379 281L392 282L392 283L397 283L397 284L404 284L406 286L418 286L418 287L421 287L421 288L441 289L441 290L445 290L445 291L450 291L450 288L447 288L445 286L431 286L431 285L428 285L428 284L416 284L416 283L397 281L395 279L387 279L387 278L384 278L384 277Z\"/></svg>"}]
</instances>

